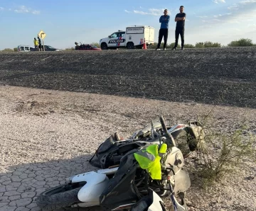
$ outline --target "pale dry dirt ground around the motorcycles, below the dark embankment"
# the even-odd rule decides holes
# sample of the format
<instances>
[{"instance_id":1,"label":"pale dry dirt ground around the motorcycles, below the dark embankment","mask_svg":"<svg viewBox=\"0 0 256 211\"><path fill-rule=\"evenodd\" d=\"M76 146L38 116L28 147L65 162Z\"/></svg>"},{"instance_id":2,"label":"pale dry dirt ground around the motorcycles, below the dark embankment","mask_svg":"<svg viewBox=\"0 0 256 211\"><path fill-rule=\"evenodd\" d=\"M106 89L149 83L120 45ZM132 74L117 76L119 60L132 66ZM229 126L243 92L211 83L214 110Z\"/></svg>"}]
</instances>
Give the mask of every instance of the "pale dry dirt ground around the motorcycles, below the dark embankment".
<instances>
[{"instance_id":1,"label":"pale dry dirt ground around the motorcycles, below the dark embankment","mask_svg":"<svg viewBox=\"0 0 256 211\"><path fill-rule=\"evenodd\" d=\"M64 178L95 168L88 159L113 132L128 137L151 118L172 125L206 115L213 105L147 98L0 86L0 210L36 211L36 197ZM254 106L252 106L254 107ZM217 105L215 130L229 133L246 119L256 134L256 110ZM193 154L186 169L193 166ZM250 177L250 179L248 179ZM245 159L240 172L203 191L191 175L188 210L256 210L256 166ZM82 209L80 209L82 210Z\"/></svg>"}]
</instances>

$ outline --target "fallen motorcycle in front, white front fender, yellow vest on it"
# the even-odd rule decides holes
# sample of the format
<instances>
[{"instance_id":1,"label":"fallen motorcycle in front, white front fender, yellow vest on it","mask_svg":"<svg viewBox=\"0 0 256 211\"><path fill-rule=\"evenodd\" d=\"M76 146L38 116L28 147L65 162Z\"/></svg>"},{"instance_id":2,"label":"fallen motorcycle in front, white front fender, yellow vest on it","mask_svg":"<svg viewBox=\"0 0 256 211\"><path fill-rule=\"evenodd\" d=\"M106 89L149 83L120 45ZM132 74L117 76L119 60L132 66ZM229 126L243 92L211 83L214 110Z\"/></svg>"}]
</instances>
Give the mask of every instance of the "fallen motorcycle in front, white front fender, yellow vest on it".
<instances>
[{"instance_id":1,"label":"fallen motorcycle in front, white front fender, yellow vest on it","mask_svg":"<svg viewBox=\"0 0 256 211\"><path fill-rule=\"evenodd\" d=\"M67 178L66 184L41 193L37 199L38 206L42 210L100 206L105 210L137 211L142 210L140 205L146 205L145 198L154 192L160 197L169 196L174 210L187 210L186 190L191 186L191 181L188 173L182 170L183 154L168 132L164 118L160 117L160 122L163 134L158 144L148 143L130 150L122 156L118 167ZM150 166L156 168L159 165L157 179L154 178L156 172L149 170L138 159L139 155L148 153L149 147L157 149L159 153L152 159L156 166Z\"/></svg>"}]
</instances>

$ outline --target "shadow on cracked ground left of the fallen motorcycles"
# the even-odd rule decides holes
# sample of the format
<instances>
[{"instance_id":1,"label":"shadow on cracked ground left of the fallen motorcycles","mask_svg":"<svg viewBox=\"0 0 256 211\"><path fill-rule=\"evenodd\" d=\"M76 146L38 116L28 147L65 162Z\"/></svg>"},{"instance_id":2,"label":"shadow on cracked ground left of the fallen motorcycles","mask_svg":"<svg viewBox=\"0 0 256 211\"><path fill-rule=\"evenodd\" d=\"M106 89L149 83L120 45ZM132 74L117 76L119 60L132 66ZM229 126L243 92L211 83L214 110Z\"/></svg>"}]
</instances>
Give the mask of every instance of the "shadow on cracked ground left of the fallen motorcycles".
<instances>
[{"instance_id":1,"label":"shadow on cracked ground left of the fallen motorcycles","mask_svg":"<svg viewBox=\"0 0 256 211\"><path fill-rule=\"evenodd\" d=\"M91 157L92 155L85 155L74 159L9 166L6 173L0 174L0 210L41 210L36 205L36 198L44 190L65 183L67 177L97 170L88 162ZM72 210L96 211L101 209L100 207L93 207L93 209L80 207Z\"/></svg>"}]
</instances>

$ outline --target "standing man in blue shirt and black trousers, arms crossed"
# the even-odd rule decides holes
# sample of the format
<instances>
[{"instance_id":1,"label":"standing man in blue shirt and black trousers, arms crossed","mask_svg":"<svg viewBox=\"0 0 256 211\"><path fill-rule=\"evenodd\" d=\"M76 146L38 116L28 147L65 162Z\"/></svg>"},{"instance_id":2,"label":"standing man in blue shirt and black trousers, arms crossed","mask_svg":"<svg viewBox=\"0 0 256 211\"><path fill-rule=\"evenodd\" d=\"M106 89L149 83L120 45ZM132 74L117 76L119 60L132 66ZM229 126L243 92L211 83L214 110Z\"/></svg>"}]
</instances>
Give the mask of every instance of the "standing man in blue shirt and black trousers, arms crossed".
<instances>
[{"instance_id":1,"label":"standing man in blue shirt and black trousers, arms crossed","mask_svg":"<svg viewBox=\"0 0 256 211\"><path fill-rule=\"evenodd\" d=\"M159 30L159 42L158 42L156 50L160 50L159 47L161 45L161 40L163 39L163 36L164 36L164 50L166 50L169 20L170 20L170 16L168 16L168 10L165 9L164 10L164 16L161 16L159 18L159 23L161 23L161 27L160 27L160 30Z\"/></svg>"}]
</instances>

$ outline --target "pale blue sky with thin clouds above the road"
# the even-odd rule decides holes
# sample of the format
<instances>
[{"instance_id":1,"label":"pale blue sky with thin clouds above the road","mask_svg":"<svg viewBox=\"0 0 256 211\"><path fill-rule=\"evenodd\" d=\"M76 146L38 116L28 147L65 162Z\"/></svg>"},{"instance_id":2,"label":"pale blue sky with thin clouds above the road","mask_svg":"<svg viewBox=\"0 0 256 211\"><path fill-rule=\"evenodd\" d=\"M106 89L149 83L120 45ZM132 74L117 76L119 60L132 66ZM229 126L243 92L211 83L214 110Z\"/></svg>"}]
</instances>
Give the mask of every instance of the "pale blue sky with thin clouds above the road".
<instances>
[{"instance_id":1,"label":"pale blue sky with thin clouds above the road","mask_svg":"<svg viewBox=\"0 0 256 211\"><path fill-rule=\"evenodd\" d=\"M171 17L171 43L181 5L186 13L186 44L227 45L240 38L256 43L256 0L0 0L0 50L33 46L40 30L46 33L45 45L60 49L74 47L75 42L99 42L130 25L154 27L156 41L165 8Z\"/></svg>"}]
</instances>

